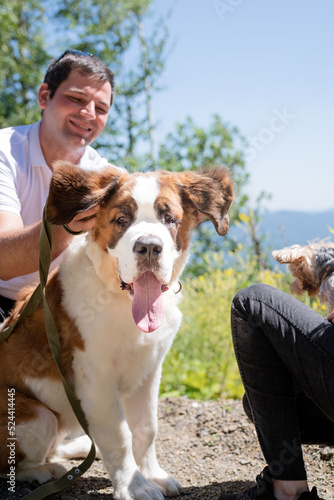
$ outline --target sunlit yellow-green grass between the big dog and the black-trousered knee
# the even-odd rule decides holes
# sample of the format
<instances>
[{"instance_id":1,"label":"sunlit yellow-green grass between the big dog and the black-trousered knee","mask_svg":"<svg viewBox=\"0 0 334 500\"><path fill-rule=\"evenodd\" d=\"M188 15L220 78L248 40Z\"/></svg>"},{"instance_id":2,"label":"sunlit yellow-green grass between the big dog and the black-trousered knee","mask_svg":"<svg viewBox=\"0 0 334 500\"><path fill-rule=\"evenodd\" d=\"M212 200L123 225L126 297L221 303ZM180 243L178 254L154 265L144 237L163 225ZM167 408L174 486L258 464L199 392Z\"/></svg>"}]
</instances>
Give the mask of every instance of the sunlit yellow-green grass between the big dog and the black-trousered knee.
<instances>
[{"instance_id":1,"label":"sunlit yellow-green grass between the big dog and the black-trousered knee","mask_svg":"<svg viewBox=\"0 0 334 500\"><path fill-rule=\"evenodd\" d=\"M235 261L239 255L235 254ZM161 396L195 399L240 398L239 376L230 330L234 295L252 283L267 283L289 293L290 273L256 268L252 257L240 257L228 269L215 268L183 282L183 323L163 366ZM324 316L326 308L306 294L301 300Z\"/></svg>"}]
</instances>

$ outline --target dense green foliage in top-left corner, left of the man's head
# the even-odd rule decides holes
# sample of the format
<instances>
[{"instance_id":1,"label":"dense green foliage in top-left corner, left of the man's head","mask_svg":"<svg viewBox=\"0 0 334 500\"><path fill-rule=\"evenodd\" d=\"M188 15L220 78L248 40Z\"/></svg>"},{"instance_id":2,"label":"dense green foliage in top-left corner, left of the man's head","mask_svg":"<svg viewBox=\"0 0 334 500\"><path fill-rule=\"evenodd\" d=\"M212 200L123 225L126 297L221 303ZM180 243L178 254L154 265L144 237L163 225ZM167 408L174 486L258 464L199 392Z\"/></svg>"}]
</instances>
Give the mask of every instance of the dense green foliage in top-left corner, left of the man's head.
<instances>
[{"instance_id":1,"label":"dense green foliage in top-left corner, left of the man's head","mask_svg":"<svg viewBox=\"0 0 334 500\"><path fill-rule=\"evenodd\" d=\"M48 60L38 0L11 0L0 6L0 128L39 120L37 88Z\"/></svg>"}]
</instances>

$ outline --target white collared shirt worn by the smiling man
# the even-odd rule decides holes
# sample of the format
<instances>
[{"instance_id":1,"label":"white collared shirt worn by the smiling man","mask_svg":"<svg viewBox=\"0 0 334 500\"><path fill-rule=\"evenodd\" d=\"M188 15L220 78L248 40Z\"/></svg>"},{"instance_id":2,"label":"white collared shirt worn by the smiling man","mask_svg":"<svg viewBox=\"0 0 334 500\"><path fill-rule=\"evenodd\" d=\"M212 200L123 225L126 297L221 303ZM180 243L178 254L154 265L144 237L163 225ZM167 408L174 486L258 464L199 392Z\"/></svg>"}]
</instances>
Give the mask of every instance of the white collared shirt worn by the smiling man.
<instances>
[{"instance_id":1,"label":"white collared shirt worn by the smiling man","mask_svg":"<svg viewBox=\"0 0 334 500\"><path fill-rule=\"evenodd\" d=\"M39 129L40 122L0 130L0 210L20 215L24 226L41 220L52 177L42 153ZM107 164L90 146L80 161L85 170L99 170ZM51 269L59 260L53 261ZM38 272L0 280L0 295L15 298L20 288L38 282Z\"/></svg>"}]
</instances>

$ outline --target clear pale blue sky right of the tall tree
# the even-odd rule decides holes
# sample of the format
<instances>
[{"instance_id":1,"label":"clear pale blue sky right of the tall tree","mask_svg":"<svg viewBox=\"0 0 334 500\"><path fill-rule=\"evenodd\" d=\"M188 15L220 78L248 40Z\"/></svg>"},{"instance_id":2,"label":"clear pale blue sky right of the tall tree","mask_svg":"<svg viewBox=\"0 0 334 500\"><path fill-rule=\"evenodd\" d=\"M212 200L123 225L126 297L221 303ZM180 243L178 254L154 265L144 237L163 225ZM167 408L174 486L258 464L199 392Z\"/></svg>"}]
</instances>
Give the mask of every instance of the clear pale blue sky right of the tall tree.
<instances>
[{"instance_id":1,"label":"clear pale blue sky right of the tall tree","mask_svg":"<svg viewBox=\"0 0 334 500\"><path fill-rule=\"evenodd\" d=\"M213 114L249 141L252 199L268 210L334 207L334 1L153 0L174 45L154 98L158 138Z\"/></svg>"}]
</instances>

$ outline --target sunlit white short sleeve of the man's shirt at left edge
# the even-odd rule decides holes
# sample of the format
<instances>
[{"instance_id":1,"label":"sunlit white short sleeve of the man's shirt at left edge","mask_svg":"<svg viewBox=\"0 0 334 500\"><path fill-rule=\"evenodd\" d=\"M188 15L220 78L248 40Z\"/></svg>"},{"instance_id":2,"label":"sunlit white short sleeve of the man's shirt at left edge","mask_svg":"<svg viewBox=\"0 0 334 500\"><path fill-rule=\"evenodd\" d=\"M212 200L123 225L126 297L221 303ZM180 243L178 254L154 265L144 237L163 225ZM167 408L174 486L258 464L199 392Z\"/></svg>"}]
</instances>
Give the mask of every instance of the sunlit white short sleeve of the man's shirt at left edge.
<instances>
[{"instance_id":1,"label":"sunlit white short sleeve of the man's shirt at left edge","mask_svg":"<svg viewBox=\"0 0 334 500\"><path fill-rule=\"evenodd\" d=\"M16 189L16 172L0 152L0 210L20 215L21 203Z\"/></svg>"}]
</instances>

